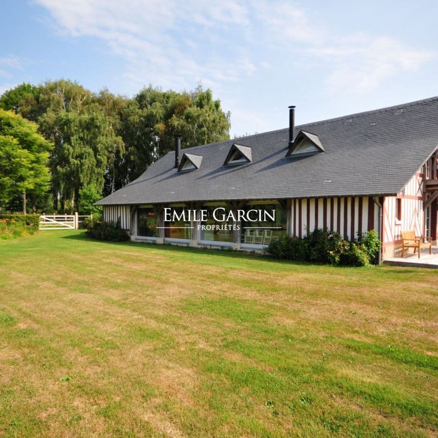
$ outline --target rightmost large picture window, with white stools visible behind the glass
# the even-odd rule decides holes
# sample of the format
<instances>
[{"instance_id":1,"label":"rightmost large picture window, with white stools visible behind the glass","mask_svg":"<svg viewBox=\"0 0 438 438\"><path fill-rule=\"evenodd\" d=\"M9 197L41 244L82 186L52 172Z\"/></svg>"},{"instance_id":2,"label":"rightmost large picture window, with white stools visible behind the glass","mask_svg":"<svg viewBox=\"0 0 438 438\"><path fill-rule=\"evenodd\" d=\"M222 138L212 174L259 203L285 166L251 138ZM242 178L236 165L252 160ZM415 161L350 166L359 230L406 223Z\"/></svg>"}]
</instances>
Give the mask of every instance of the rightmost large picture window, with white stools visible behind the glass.
<instances>
[{"instance_id":1,"label":"rightmost large picture window, with white stools visible behind the glass","mask_svg":"<svg viewBox=\"0 0 438 438\"><path fill-rule=\"evenodd\" d=\"M285 209L279 203L272 204L247 204L243 209L248 210L266 210L272 215L275 211L275 221L272 221L266 215L266 221L242 221L241 222L241 243L253 245L269 245L273 240L278 239L287 233L286 223L287 214ZM253 215L257 217L257 215ZM263 215L262 215L263 216Z\"/></svg>"}]
</instances>

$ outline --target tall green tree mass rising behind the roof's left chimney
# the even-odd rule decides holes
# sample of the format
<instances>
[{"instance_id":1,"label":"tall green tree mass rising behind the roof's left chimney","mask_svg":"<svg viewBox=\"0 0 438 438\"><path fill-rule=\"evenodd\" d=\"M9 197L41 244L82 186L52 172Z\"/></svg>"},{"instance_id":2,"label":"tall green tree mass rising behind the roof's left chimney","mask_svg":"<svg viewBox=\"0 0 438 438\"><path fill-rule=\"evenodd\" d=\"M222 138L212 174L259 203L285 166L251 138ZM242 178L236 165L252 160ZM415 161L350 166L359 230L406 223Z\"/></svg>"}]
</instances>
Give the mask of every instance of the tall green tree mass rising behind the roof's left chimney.
<instances>
[{"instance_id":1,"label":"tall green tree mass rising behind the roof's left chimney","mask_svg":"<svg viewBox=\"0 0 438 438\"><path fill-rule=\"evenodd\" d=\"M230 113L222 110L211 90L200 85L190 93L144 88L128 101L120 120L119 134L126 149L115 160L115 189L173 150L174 134L181 134L183 148L230 138Z\"/></svg>"}]
</instances>

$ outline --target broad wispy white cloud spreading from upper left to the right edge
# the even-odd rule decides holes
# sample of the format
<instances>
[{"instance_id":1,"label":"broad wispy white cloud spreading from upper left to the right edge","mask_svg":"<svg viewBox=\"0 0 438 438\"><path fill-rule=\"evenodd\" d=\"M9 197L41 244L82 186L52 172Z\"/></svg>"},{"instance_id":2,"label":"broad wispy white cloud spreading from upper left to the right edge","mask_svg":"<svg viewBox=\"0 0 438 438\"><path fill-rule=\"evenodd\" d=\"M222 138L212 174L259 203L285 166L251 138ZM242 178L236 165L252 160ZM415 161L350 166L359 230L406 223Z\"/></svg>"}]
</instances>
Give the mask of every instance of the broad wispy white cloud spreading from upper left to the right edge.
<instances>
[{"instance_id":1,"label":"broad wispy white cloud spreading from upper left to the right edge","mask_svg":"<svg viewBox=\"0 0 438 438\"><path fill-rule=\"evenodd\" d=\"M34 1L63 33L99 38L124 58L128 92L148 83L193 88L199 80L220 90L293 59L322 65L327 92L360 94L436 56L385 36L342 34L281 0Z\"/></svg>"}]
</instances>

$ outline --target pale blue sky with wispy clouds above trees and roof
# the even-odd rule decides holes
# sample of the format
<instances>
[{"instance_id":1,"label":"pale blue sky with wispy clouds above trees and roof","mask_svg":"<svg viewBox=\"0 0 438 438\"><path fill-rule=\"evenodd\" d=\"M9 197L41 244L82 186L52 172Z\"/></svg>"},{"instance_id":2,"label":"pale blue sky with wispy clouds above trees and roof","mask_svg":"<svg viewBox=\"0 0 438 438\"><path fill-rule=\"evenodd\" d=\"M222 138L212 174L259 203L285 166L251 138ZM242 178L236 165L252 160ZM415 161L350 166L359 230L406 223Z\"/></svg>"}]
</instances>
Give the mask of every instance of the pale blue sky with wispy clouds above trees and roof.
<instances>
[{"instance_id":1,"label":"pale blue sky with wispy clouds above trees and roof","mask_svg":"<svg viewBox=\"0 0 438 438\"><path fill-rule=\"evenodd\" d=\"M0 94L60 78L133 97L201 83L231 136L438 95L438 2L0 0Z\"/></svg>"}]
</instances>

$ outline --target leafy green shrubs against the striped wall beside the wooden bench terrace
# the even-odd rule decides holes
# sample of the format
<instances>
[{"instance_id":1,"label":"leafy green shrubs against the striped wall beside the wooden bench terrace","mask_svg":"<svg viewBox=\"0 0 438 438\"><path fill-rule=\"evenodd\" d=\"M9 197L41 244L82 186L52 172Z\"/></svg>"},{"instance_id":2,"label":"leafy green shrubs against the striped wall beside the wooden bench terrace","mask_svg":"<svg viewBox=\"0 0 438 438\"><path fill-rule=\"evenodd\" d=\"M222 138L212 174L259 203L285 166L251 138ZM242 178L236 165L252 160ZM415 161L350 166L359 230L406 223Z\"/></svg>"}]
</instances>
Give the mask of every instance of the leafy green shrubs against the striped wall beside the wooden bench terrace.
<instances>
[{"instance_id":1,"label":"leafy green shrubs against the striped wall beside the wooden bench terrace","mask_svg":"<svg viewBox=\"0 0 438 438\"><path fill-rule=\"evenodd\" d=\"M264 251L276 259L366 266L376 261L379 248L380 240L374 230L360 234L357 241L348 241L339 233L315 229L304 238L282 236Z\"/></svg>"}]
</instances>

